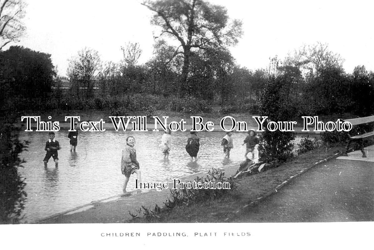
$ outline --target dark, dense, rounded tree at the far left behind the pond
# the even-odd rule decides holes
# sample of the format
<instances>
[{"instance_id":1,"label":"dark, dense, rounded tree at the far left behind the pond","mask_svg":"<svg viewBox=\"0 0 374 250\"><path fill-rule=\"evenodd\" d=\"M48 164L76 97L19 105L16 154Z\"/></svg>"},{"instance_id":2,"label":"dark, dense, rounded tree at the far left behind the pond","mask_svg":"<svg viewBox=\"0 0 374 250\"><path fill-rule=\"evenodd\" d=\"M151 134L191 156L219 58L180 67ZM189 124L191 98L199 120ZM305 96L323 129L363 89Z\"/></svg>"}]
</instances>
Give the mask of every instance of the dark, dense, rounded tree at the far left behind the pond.
<instances>
[{"instance_id":1,"label":"dark, dense, rounded tree at the far left behind the pond","mask_svg":"<svg viewBox=\"0 0 374 250\"><path fill-rule=\"evenodd\" d=\"M0 52L1 99L16 109L44 108L55 75L49 54L20 46Z\"/></svg>"}]
</instances>

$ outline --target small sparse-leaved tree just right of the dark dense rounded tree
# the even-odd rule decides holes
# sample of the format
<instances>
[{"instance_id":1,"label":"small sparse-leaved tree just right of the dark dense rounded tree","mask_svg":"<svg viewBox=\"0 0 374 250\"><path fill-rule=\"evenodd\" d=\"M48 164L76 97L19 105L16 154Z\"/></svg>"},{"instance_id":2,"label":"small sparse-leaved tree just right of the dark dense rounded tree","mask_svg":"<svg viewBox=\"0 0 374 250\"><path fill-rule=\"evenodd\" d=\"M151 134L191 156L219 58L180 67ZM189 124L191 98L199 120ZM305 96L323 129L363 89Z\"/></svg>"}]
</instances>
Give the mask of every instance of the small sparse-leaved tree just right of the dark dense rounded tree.
<instances>
[{"instance_id":1,"label":"small sparse-leaved tree just right of the dark dense rounded tree","mask_svg":"<svg viewBox=\"0 0 374 250\"><path fill-rule=\"evenodd\" d=\"M78 52L78 57L69 60L67 75L72 84L71 88L80 99L80 89L84 89L84 97L88 99L92 96L94 80L101 69L99 52L84 48Z\"/></svg>"}]
</instances>

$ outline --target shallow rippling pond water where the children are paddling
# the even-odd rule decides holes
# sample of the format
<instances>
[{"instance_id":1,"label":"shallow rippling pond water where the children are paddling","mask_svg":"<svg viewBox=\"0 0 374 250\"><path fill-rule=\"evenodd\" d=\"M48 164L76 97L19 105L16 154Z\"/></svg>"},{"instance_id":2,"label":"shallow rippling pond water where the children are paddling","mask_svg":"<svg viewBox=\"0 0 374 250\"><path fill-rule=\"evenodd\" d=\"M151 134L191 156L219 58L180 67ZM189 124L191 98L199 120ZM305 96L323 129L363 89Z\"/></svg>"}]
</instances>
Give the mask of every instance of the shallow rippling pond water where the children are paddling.
<instances>
[{"instance_id":1,"label":"shallow rippling pond water where the children are paddling","mask_svg":"<svg viewBox=\"0 0 374 250\"><path fill-rule=\"evenodd\" d=\"M169 160L164 160L158 146L163 132L80 132L76 152L70 152L68 131L56 132L61 150L59 166L50 158L45 169L45 142L47 132L22 132L21 139L30 141L28 151L22 153L24 168L19 172L26 178L27 201L23 211L24 222L69 210L91 201L108 198L122 192L124 176L120 171L121 152L128 135L135 137L137 159L140 162L142 182L163 182L187 176L212 167L238 164L244 159L242 146L246 133L234 133L234 148L230 159L224 160L221 139L224 132L200 132L198 161L190 162L184 149L188 132L172 134ZM295 143L300 142L298 137ZM134 190L136 174L131 176L128 190Z\"/></svg>"}]
</instances>

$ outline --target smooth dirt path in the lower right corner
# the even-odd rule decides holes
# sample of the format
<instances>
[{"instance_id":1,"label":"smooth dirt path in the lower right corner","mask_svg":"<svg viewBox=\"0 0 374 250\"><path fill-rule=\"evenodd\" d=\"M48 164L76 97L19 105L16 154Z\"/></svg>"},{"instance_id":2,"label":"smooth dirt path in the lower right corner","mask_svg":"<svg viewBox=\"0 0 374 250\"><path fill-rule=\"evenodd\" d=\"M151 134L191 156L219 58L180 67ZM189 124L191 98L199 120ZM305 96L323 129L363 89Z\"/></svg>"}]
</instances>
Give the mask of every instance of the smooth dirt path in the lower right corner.
<instances>
[{"instance_id":1,"label":"smooth dirt path in the lower right corner","mask_svg":"<svg viewBox=\"0 0 374 250\"><path fill-rule=\"evenodd\" d=\"M374 220L374 163L335 159L295 178L230 222Z\"/></svg>"}]
</instances>

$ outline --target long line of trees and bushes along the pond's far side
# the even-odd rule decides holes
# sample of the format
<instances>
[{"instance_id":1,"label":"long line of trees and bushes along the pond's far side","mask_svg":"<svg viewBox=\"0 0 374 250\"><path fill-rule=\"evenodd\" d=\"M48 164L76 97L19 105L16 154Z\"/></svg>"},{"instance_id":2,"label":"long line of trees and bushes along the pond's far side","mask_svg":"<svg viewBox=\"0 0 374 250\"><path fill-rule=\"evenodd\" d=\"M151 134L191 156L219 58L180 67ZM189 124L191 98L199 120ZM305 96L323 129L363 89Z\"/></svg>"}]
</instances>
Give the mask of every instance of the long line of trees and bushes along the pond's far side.
<instances>
[{"instance_id":1,"label":"long line of trees and bushes along the pond's far side","mask_svg":"<svg viewBox=\"0 0 374 250\"><path fill-rule=\"evenodd\" d=\"M119 63L102 63L98 52L83 49L69 63L68 77L58 77L50 55L12 46L0 52L0 95L3 109L172 110L259 113L261 93L270 80L282 85L283 102L295 116L351 112L373 113L374 73L357 66L344 72L340 55L318 43L304 46L283 61L255 71L236 65L229 52L211 51L190 58L187 82L181 82L182 58L169 61L166 45L158 45L145 64L138 64L137 44L123 48ZM156 50L157 52L157 50ZM138 55L138 56L134 56ZM70 82L70 89L59 89ZM99 89L93 89L96 86ZM52 89L52 87L56 87Z\"/></svg>"}]
</instances>

